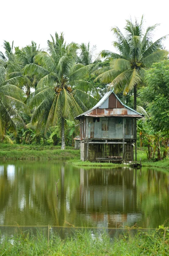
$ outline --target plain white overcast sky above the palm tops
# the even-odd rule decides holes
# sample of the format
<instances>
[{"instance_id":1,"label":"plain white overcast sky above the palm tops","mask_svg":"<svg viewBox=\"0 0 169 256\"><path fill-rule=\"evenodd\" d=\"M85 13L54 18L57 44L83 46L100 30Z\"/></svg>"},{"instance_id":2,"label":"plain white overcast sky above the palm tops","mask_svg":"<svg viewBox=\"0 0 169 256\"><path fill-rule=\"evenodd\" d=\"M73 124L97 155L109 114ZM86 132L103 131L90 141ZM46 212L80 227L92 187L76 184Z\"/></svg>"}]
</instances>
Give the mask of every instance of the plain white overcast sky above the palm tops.
<instances>
[{"instance_id":1,"label":"plain white overcast sky above the palm tops","mask_svg":"<svg viewBox=\"0 0 169 256\"><path fill-rule=\"evenodd\" d=\"M3 1L3 2L2 2ZM113 51L111 27L123 31L125 20L141 20L144 27L160 23L153 41L169 34L169 1L167 0L1 0L0 3L0 51L3 40L14 46L24 47L31 40L47 47L50 34L64 32L67 43L74 41ZM169 49L169 38L164 41ZM4 52L4 51L3 51Z\"/></svg>"}]
</instances>

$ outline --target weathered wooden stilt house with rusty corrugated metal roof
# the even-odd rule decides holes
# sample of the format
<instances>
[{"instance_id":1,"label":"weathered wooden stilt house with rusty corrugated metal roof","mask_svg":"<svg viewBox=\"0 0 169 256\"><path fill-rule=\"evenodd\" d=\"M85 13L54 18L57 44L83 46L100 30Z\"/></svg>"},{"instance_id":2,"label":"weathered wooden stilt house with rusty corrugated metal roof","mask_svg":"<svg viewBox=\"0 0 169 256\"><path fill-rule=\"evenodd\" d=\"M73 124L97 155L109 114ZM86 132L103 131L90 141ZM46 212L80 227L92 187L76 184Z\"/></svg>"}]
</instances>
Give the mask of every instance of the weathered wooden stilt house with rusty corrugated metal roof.
<instances>
[{"instance_id":1,"label":"weathered wooden stilt house with rusty corrugated metal roof","mask_svg":"<svg viewBox=\"0 0 169 256\"><path fill-rule=\"evenodd\" d=\"M75 118L80 121L81 160L133 161L136 122L142 117L113 90L107 92L93 108Z\"/></svg>"}]
</instances>

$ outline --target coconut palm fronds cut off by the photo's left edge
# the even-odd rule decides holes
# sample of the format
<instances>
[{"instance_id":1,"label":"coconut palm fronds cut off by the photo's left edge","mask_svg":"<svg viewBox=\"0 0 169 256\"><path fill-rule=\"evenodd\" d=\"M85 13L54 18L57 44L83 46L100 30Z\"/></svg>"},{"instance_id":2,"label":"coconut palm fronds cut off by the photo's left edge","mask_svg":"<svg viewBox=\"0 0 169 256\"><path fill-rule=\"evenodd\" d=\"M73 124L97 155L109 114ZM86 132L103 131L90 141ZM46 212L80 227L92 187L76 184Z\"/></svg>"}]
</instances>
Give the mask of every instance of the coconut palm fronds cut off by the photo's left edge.
<instances>
[{"instance_id":1,"label":"coconut palm fronds cut off by the photo's left edge","mask_svg":"<svg viewBox=\"0 0 169 256\"><path fill-rule=\"evenodd\" d=\"M6 137L6 130L17 133L17 127L24 126L20 112L25 110L24 92L6 80L7 70L0 66L0 140Z\"/></svg>"}]
</instances>

